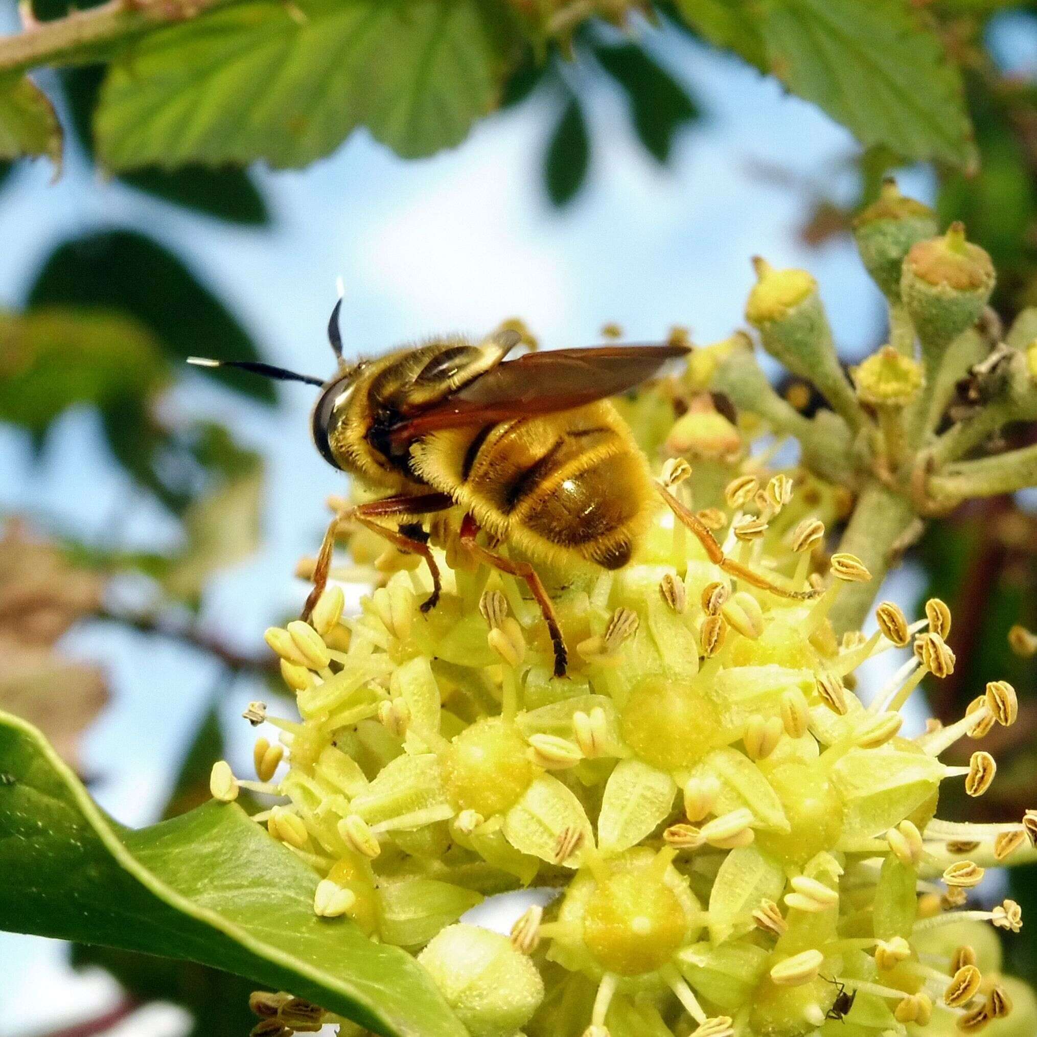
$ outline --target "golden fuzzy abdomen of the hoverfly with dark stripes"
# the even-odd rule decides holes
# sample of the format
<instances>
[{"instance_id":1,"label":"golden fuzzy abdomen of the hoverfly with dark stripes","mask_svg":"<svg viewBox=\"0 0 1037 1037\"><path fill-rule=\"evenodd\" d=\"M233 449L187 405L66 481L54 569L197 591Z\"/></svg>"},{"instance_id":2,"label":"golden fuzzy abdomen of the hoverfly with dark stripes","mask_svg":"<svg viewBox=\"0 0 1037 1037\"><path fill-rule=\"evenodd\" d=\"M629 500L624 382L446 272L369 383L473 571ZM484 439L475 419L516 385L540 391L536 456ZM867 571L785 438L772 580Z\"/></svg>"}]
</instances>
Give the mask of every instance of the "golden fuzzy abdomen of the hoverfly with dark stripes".
<instances>
[{"instance_id":1,"label":"golden fuzzy abdomen of the hoverfly with dark stripes","mask_svg":"<svg viewBox=\"0 0 1037 1037\"><path fill-rule=\"evenodd\" d=\"M427 437L412 448L423 481L480 526L554 561L576 552L618 568L647 522L645 460L611 403Z\"/></svg>"}]
</instances>

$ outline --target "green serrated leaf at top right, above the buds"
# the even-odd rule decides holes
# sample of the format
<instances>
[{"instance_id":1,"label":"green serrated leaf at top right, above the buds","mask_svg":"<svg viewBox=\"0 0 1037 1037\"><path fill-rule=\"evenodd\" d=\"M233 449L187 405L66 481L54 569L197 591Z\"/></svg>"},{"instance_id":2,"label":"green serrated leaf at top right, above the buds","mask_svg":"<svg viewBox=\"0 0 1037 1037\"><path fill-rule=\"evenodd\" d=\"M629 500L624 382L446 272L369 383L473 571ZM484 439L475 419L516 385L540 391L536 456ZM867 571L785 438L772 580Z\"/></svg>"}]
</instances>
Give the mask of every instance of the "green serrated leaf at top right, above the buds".
<instances>
[{"instance_id":1,"label":"green serrated leaf at top right, above the buds","mask_svg":"<svg viewBox=\"0 0 1037 1037\"><path fill-rule=\"evenodd\" d=\"M770 71L865 146L974 163L961 80L902 0L766 0Z\"/></svg>"}]
</instances>

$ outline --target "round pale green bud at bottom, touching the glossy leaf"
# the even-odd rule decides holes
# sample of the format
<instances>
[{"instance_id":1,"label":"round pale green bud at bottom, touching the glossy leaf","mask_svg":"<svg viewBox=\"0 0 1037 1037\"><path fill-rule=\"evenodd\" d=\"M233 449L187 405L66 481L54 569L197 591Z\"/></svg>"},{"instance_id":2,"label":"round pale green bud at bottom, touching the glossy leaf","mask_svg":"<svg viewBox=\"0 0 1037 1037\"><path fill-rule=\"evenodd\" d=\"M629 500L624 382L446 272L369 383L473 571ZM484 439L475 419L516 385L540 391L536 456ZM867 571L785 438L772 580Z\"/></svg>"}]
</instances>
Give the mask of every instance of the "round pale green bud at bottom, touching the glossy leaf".
<instances>
[{"instance_id":1,"label":"round pale green bud at bottom, touching the glossy leaf","mask_svg":"<svg viewBox=\"0 0 1037 1037\"><path fill-rule=\"evenodd\" d=\"M512 1037L543 1000L533 962L507 936L448 926L418 955L472 1037Z\"/></svg>"}]
</instances>

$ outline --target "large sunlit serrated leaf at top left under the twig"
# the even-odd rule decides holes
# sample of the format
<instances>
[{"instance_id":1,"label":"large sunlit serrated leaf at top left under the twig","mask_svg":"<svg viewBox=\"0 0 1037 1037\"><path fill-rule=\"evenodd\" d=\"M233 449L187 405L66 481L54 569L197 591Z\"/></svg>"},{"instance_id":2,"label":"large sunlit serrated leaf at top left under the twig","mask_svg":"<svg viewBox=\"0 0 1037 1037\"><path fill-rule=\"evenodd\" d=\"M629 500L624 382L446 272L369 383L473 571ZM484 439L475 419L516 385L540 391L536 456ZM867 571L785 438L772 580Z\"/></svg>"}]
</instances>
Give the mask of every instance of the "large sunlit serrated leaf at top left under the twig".
<instances>
[{"instance_id":1,"label":"large sunlit serrated leaf at top left under the twig","mask_svg":"<svg viewBox=\"0 0 1037 1037\"><path fill-rule=\"evenodd\" d=\"M517 35L493 0L274 0L162 29L116 61L94 122L111 169L299 167L358 127L403 158L459 144Z\"/></svg>"}]
</instances>

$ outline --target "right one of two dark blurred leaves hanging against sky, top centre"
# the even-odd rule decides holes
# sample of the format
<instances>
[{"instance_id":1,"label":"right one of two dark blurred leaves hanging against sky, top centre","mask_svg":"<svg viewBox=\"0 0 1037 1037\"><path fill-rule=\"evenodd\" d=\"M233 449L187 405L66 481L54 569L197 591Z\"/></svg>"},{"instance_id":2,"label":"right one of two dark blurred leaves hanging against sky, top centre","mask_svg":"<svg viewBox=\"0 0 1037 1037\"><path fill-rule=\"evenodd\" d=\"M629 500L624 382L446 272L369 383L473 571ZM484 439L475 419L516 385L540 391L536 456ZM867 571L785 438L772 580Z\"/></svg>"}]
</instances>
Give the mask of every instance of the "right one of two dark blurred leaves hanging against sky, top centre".
<instances>
[{"instance_id":1,"label":"right one of two dark blurred leaves hanging against sky, top centre","mask_svg":"<svg viewBox=\"0 0 1037 1037\"><path fill-rule=\"evenodd\" d=\"M674 134L699 114L683 86L637 44L597 47L594 53L626 91L641 143L657 162L669 161Z\"/></svg>"}]
</instances>

